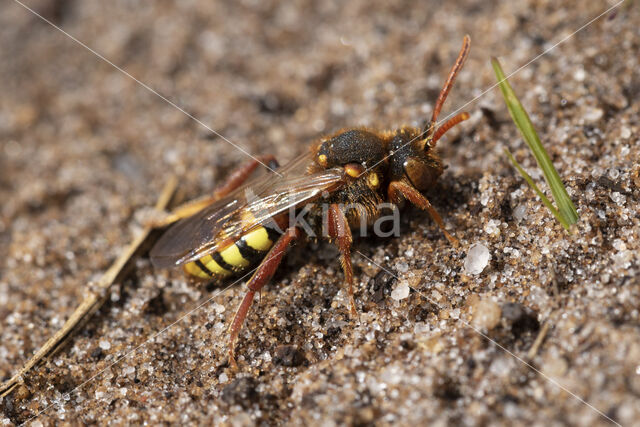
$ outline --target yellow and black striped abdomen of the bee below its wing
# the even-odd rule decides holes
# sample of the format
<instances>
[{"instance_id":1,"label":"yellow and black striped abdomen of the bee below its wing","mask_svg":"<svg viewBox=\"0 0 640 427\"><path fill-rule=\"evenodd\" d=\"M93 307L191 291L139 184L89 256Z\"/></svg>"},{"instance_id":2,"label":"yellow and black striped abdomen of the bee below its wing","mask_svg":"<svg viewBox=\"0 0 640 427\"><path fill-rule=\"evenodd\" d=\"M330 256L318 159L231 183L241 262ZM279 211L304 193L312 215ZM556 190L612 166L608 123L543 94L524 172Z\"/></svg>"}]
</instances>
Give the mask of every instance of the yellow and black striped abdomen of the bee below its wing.
<instances>
[{"instance_id":1,"label":"yellow and black striped abdomen of the bee below its wing","mask_svg":"<svg viewBox=\"0 0 640 427\"><path fill-rule=\"evenodd\" d=\"M267 255L280 233L259 226L224 249L185 264L187 274L200 279L225 278L256 265Z\"/></svg>"}]
</instances>

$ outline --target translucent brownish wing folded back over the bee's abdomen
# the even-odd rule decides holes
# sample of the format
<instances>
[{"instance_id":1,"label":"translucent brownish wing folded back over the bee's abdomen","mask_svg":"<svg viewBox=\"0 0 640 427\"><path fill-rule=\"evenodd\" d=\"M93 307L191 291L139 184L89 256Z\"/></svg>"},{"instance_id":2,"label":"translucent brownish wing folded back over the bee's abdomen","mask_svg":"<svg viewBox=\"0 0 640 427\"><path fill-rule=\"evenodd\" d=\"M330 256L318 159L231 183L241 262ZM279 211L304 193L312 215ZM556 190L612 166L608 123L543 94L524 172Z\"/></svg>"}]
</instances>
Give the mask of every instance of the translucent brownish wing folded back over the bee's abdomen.
<instances>
[{"instance_id":1,"label":"translucent brownish wing folded back over the bee's abdomen","mask_svg":"<svg viewBox=\"0 0 640 427\"><path fill-rule=\"evenodd\" d=\"M195 261L235 242L259 225L335 191L345 183L342 168L310 173L311 154L298 157L271 173L257 177L193 216L172 225L151 249L158 268Z\"/></svg>"}]
</instances>

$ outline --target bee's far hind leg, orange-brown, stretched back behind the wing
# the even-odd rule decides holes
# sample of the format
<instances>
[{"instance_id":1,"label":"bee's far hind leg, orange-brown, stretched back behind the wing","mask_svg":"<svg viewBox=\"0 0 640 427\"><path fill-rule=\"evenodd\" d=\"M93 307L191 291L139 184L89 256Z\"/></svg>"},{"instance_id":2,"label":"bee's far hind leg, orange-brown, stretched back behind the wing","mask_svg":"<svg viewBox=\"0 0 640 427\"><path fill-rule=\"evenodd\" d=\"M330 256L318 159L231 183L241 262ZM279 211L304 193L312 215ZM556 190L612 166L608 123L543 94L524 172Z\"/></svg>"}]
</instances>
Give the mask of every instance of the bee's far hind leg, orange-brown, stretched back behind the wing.
<instances>
[{"instance_id":1,"label":"bee's far hind leg, orange-brown, stretched back behind the wing","mask_svg":"<svg viewBox=\"0 0 640 427\"><path fill-rule=\"evenodd\" d=\"M229 175L224 184L216 188L213 191L212 195L200 197L198 199L183 203L182 205L173 209L171 213L166 215L164 218L153 221L153 227L162 228L178 221L179 219L186 218L197 212L200 212L205 207L227 196L233 190L244 184L251 176L251 174L256 170L256 168L261 164L266 164L272 169L278 167L278 162L276 161L276 158L274 156L258 156L231 172L231 175Z\"/></svg>"}]
</instances>

